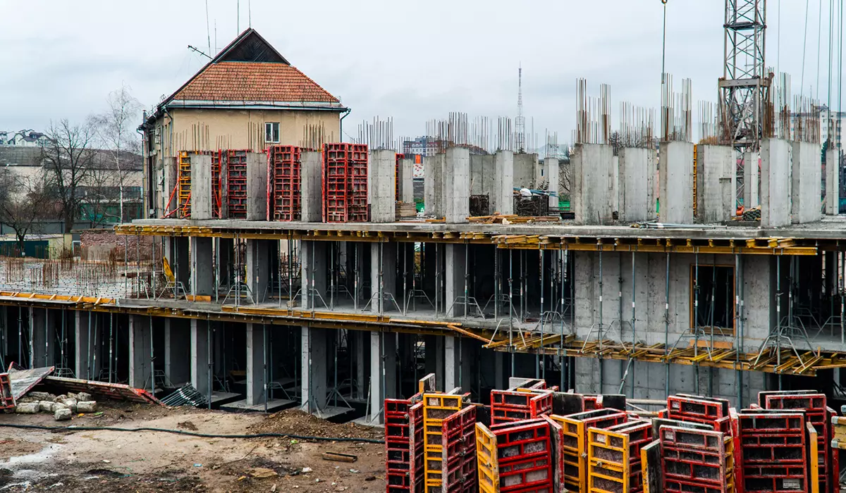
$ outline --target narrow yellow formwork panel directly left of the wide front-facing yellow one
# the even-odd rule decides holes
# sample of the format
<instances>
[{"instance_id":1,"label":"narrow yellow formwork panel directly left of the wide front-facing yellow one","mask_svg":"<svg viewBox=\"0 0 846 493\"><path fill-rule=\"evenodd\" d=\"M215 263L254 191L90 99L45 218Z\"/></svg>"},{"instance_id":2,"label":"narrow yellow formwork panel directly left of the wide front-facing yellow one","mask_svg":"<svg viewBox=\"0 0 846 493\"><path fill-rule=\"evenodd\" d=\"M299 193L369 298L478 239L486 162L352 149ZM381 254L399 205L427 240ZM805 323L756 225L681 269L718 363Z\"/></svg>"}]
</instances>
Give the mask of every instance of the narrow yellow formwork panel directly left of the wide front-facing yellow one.
<instances>
[{"instance_id":1,"label":"narrow yellow formwork panel directly left of the wide front-facing yellow one","mask_svg":"<svg viewBox=\"0 0 846 493\"><path fill-rule=\"evenodd\" d=\"M628 422L628 415L616 409L595 409L585 413L550 416L562 427L563 487L571 491L587 491L587 430L603 429Z\"/></svg>"}]
</instances>

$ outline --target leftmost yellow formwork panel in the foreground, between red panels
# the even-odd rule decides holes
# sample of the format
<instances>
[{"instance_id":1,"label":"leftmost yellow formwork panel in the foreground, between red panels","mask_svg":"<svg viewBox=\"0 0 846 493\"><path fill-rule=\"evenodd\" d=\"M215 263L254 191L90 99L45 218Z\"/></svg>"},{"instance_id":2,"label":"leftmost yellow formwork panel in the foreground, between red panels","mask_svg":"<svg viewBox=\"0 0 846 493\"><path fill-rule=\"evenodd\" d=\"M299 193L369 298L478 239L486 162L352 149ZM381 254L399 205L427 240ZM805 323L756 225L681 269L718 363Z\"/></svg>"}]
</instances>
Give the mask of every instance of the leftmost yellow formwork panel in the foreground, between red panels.
<instances>
[{"instance_id":1,"label":"leftmost yellow formwork panel in the foreground, between red panels","mask_svg":"<svg viewBox=\"0 0 846 493\"><path fill-rule=\"evenodd\" d=\"M423 470L426 492L440 491L443 484L443 420L463 407L461 395L423 394Z\"/></svg>"}]
</instances>

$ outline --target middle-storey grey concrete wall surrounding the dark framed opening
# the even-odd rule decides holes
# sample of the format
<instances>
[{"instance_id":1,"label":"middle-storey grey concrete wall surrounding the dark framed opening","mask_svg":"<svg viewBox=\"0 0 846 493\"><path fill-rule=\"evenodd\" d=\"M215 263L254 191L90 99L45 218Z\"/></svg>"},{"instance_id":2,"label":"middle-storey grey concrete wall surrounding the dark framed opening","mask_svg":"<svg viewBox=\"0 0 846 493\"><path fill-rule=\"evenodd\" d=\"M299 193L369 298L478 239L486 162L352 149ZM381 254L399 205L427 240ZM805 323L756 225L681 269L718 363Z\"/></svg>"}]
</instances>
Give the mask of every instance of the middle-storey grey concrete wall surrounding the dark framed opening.
<instances>
[{"instance_id":1,"label":"middle-storey grey concrete wall surrounding the dark framed opening","mask_svg":"<svg viewBox=\"0 0 846 493\"><path fill-rule=\"evenodd\" d=\"M588 337L591 329L598 328L602 322L602 327L609 331L607 338L620 340L622 336L623 341L631 342L633 302L634 337L639 342L647 345L665 342L665 303L669 305L667 339L670 346L691 328L696 255L670 255L668 301L667 256L664 254L635 254L634 277L629 253L603 253L602 276L598 252L574 252L573 261L575 328L580 338ZM734 256L699 255L698 262L700 266L734 266ZM771 259L762 256L747 255L741 262L746 315L743 346L744 350L752 351L766 339L775 323L775 281L771 275L775 267ZM596 332L591 334L591 338L596 336ZM715 339L734 342L733 336ZM683 342L685 347L689 343L687 339Z\"/></svg>"}]
</instances>

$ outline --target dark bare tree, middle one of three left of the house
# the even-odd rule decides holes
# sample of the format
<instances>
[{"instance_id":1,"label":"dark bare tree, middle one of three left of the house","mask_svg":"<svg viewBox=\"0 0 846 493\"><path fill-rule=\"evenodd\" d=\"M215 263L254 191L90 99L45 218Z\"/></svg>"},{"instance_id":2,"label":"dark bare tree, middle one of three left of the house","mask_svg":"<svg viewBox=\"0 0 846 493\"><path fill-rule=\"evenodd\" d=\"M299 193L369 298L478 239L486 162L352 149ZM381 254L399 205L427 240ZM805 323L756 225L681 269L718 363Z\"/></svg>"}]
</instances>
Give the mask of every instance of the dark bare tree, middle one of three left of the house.
<instances>
[{"instance_id":1,"label":"dark bare tree, middle one of three left of the house","mask_svg":"<svg viewBox=\"0 0 846 493\"><path fill-rule=\"evenodd\" d=\"M82 194L80 187L91 171L94 161L94 127L89 123L72 124L67 119L50 123L47 144L41 147L47 188L55 193L60 205L64 230L70 232L79 214Z\"/></svg>"}]
</instances>

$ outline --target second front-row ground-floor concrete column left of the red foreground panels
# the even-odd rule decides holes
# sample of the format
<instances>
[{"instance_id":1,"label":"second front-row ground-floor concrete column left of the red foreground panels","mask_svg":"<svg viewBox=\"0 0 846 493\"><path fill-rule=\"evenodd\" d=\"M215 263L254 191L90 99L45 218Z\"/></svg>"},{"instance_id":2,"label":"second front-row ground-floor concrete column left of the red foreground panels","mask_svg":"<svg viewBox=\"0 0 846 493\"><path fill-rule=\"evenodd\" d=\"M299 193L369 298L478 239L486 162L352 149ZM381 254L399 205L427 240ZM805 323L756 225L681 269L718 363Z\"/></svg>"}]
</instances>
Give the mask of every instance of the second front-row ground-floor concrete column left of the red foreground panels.
<instances>
[{"instance_id":1,"label":"second front-row ground-floor concrete column left of the red foreground panels","mask_svg":"<svg viewBox=\"0 0 846 493\"><path fill-rule=\"evenodd\" d=\"M302 409L317 413L327 405L327 341L329 329L300 328L302 357Z\"/></svg>"}]
</instances>

